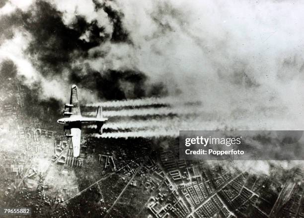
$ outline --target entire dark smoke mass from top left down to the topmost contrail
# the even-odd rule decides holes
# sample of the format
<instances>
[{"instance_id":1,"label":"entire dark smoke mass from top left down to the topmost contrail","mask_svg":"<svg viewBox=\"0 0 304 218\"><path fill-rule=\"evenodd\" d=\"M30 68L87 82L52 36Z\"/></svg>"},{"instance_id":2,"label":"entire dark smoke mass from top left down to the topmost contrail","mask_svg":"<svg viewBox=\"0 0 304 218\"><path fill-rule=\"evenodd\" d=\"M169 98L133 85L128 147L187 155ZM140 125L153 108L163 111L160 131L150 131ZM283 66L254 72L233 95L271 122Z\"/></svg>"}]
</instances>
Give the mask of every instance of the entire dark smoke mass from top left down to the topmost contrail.
<instances>
[{"instance_id":1,"label":"entire dark smoke mass from top left down to the topmost contrail","mask_svg":"<svg viewBox=\"0 0 304 218\"><path fill-rule=\"evenodd\" d=\"M105 58L108 51L98 50L105 43L132 45L129 32L123 26L124 14L109 4L98 1L94 4L95 11L103 10L107 14L112 22L112 32L107 31L97 19L88 21L81 14L75 15L71 23L66 23L63 12L55 4L38 0L28 10L17 8L15 12L0 17L1 28L5 30L0 33L1 41L12 39L16 30L29 33L30 40L24 50L27 59L45 83L54 80L57 86L66 86L65 90L68 90L68 85L76 83L85 88L86 93L93 92L96 93L93 96L109 100L165 94L164 86L155 83L145 91L147 75L136 68L96 70L83 62ZM39 79L36 78L37 81ZM43 82L41 86L42 93L52 97L49 91L43 91L46 89ZM159 87L162 89L158 92ZM62 94L60 92L54 97Z\"/></svg>"}]
</instances>

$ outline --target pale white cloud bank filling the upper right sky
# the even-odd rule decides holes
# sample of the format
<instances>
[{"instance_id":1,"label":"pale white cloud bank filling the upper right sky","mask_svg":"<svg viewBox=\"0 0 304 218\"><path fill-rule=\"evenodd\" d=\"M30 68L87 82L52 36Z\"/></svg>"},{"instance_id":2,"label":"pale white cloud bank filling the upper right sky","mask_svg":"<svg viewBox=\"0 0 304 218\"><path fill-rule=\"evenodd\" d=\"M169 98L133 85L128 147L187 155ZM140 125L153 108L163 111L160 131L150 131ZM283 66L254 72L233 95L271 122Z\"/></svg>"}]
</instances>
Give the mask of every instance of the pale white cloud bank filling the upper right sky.
<instances>
[{"instance_id":1,"label":"pale white cloud bank filling the upper right sky","mask_svg":"<svg viewBox=\"0 0 304 218\"><path fill-rule=\"evenodd\" d=\"M284 119L303 129L303 1L116 3L134 45L112 45L109 54L121 54L108 56L112 64L136 66L223 116L241 113L235 122L259 120L263 128Z\"/></svg>"}]
</instances>

